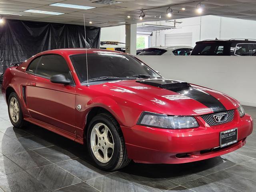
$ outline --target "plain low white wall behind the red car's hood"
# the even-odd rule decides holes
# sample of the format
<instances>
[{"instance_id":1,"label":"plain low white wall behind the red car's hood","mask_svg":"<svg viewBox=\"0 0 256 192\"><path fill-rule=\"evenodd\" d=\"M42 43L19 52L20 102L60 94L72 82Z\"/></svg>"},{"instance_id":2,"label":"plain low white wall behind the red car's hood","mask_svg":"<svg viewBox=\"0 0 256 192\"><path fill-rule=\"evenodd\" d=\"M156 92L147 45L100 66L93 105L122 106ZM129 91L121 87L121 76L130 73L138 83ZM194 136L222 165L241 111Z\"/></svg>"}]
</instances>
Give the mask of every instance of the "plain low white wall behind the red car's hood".
<instances>
[{"instance_id":1,"label":"plain low white wall behind the red car's hood","mask_svg":"<svg viewBox=\"0 0 256 192\"><path fill-rule=\"evenodd\" d=\"M137 56L169 79L198 84L256 107L256 65L250 56Z\"/></svg>"}]
</instances>

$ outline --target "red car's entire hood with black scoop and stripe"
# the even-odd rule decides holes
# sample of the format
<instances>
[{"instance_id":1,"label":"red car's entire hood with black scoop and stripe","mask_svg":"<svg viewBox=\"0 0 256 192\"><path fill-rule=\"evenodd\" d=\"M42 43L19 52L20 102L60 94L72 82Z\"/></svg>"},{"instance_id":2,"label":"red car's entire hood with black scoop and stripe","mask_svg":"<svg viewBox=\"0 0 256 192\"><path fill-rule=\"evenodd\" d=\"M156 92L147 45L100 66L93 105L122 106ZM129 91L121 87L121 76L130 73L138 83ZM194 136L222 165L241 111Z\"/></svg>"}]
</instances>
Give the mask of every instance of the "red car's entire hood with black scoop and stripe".
<instances>
[{"instance_id":1,"label":"red car's entire hood with black scoop and stripe","mask_svg":"<svg viewBox=\"0 0 256 192\"><path fill-rule=\"evenodd\" d=\"M90 88L144 105L145 110L154 106L150 112L155 112L157 106L157 112L168 115L197 116L232 110L239 106L236 100L226 94L169 79L118 80Z\"/></svg>"}]
</instances>

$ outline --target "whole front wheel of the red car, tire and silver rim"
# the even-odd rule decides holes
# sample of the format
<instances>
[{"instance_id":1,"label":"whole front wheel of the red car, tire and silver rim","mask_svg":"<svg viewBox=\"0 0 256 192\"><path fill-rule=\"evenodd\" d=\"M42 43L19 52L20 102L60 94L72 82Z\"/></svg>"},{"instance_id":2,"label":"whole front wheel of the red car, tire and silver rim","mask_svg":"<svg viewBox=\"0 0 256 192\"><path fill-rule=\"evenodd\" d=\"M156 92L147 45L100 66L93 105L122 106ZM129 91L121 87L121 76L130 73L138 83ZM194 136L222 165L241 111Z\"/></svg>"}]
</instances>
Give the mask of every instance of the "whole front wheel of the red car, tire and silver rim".
<instances>
[{"instance_id":1,"label":"whole front wheel of the red car, tire and silver rim","mask_svg":"<svg viewBox=\"0 0 256 192\"><path fill-rule=\"evenodd\" d=\"M100 132L101 134L98 133L99 136L97 136L95 130L100 130L103 133ZM107 130L107 138L104 138L105 130ZM124 168L130 163L121 128L110 114L102 113L92 118L86 135L90 156L100 169L114 171ZM94 141L97 138L98 142L95 143ZM106 145L106 143L109 144ZM106 147L102 150L104 146ZM112 146L114 149L112 149ZM96 150L93 150L93 148L96 148ZM106 153L107 155L104 155Z\"/></svg>"}]
</instances>

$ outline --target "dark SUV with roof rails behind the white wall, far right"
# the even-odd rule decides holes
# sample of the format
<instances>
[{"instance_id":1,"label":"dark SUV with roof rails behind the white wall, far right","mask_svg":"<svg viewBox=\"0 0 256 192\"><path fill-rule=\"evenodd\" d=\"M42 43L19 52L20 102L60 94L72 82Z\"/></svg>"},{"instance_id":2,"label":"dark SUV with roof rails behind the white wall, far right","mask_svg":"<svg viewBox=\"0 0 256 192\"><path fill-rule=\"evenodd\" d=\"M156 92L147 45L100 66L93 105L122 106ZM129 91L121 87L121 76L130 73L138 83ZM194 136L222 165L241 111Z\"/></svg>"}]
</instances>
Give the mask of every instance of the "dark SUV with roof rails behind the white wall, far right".
<instances>
[{"instance_id":1,"label":"dark SUV with roof rails behind the white wall, far right","mask_svg":"<svg viewBox=\"0 0 256 192\"><path fill-rule=\"evenodd\" d=\"M256 40L204 40L196 42L190 55L256 56Z\"/></svg>"}]
</instances>

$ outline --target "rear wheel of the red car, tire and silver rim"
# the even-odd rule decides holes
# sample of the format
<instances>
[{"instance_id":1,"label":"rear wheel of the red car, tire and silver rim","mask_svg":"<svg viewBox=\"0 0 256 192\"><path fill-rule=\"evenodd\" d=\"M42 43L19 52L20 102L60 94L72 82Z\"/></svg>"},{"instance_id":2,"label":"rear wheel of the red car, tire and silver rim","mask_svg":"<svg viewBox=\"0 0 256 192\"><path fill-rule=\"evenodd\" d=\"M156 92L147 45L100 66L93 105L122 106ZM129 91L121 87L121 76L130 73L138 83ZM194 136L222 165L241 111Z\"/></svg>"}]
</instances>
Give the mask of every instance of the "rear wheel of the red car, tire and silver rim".
<instances>
[{"instance_id":1,"label":"rear wheel of the red car, tire and silver rim","mask_svg":"<svg viewBox=\"0 0 256 192\"><path fill-rule=\"evenodd\" d=\"M12 104L10 104L11 102L14 102L14 108L12 107ZM12 111L15 111L16 120L15 118L12 118L12 114L14 114ZM8 114L9 114L10 121L15 128L23 127L24 119L23 119L22 109L20 107L20 101L18 99L18 96L15 92L12 92L8 98Z\"/></svg>"}]
</instances>

